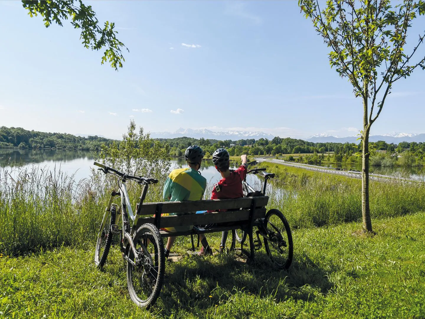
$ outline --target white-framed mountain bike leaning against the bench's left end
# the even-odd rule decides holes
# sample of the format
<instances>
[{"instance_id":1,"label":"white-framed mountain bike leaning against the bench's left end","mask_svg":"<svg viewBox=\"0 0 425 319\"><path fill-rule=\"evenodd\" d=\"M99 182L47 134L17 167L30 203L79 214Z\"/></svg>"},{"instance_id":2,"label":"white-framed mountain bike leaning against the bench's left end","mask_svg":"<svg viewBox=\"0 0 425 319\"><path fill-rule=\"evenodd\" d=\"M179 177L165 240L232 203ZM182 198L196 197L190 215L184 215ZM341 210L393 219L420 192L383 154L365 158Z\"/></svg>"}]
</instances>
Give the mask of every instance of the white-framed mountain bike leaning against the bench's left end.
<instances>
[{"instance_id":1,"label":"white-framed mountain bike leaning against the bench's left end","mask_svg":"<svg viewBox=\"0 0 425 319\"><path fill-rule=\"evenodd\" d=\"M105 209L95 249L94 262L98 268L105 265L111 248L112 237L120 236L122 258L127 262L127 286L131 300L139 307L149 308L153 305L161 291L164 278L165 259L164 245L159 230L153 224L146 223L135 228L147 188L156 184L157 179L145 178L124 174L113 168L94 162L99 170L105 174L119 177L121 183L119 191L113 191ZM136 205L136 214L133 214L130 199L128 198L127 180L134 180L143 185L142 195ZM120 204L113 203L120 199ZM121 216L121 227L118 225Z\"/></svg>"}]
</instances>

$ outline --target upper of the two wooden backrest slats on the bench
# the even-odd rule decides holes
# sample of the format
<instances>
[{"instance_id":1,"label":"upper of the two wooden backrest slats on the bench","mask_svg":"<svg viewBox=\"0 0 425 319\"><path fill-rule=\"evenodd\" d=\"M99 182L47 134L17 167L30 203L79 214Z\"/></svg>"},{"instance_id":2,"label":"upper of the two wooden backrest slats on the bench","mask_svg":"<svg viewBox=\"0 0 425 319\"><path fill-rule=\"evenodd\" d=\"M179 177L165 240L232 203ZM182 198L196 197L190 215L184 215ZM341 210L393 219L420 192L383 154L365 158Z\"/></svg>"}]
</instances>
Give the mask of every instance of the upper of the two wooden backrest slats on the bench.
<instances>
[{"instance_id":1,"label":"upper of the two wooden backrest slats on the bench","mask_svg":"<svg viewBox=\"0 0 425 319\"><path fill-rule=\"evenodd\" d=\"M257 200L257 207L263 207L267 205L269 197L259 196L255 197ZM156 212L158 204L162 204L162 214L171 213L185 213L190 211L216 211L219 209L238 209L238 208L250 208L252 203L252 197L241 197L235 199L206 199L197 200L193 202L155 202L155 203L144 203L142 205L141 215L153 215ZM191 224L193 225L193 224Z\"/></svg>"}]
</instances>

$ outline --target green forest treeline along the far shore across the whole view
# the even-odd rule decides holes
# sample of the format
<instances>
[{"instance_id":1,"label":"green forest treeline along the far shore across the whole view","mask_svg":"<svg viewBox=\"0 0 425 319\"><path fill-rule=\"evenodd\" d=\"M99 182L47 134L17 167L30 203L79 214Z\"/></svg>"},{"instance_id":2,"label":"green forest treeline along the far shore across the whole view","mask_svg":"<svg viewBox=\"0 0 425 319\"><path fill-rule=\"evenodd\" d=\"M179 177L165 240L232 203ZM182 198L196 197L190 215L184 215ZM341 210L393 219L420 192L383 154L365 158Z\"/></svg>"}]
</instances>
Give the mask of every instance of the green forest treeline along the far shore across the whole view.
<instances>
[{"instance_id":1,"label":"green forest treeline along the far shore across the whole view","mask_svg":"<svg viewBox=\"0 0 425 319\"><path fill-rule=\"evenodd\" d=\"M156 139L169 146L170 155L183 156L190 145L199 145L206 152L206 157L217 148L227 148L231 156L242 154L286 156L287 160L306 163L336 162L356 163L360 161L361 143L313 143L290 137L274 137L272 140L261 138L241 140L212 140L195 139L191 137L178 137L173 139ZM57 148L98 151L102 143L109 145L114 140L105 137L88 136L79 137L66 133L45 133L28 131L23 128L0 128L0 148ZM116 141L119 144L119 141ZM370 142L372 165L393 166L419 165L424 160L425 143L400 142L398 145L385 141ZM394 154L403 155L397 159ZM402 154L404 153L404 154ZM292 155L289 155L292 154ZM298 156L297 156L298 154ZM309 154L304 155L302 154ZM401 155L400 155L401 154ZM391 157L393 155L393 157ZM403 163L403 164L402 164Z\"/></svg>"}]
</instances>

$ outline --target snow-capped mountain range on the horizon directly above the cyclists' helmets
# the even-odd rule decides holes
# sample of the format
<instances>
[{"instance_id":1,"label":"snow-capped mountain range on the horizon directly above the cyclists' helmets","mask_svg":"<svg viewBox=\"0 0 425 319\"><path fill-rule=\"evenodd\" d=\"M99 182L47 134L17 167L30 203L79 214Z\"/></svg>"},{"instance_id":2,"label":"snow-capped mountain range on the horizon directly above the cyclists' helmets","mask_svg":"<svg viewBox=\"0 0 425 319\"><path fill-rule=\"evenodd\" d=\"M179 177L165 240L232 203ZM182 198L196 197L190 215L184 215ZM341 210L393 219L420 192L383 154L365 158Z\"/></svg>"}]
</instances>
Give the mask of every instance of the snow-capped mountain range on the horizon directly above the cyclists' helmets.
<instances>
[{"instance_id":1,"label":"snow-capped mountain range on the horizon directly above the cyclists' helmets","mask_svg":"<svg viewBox=\"0 0 425 319\"><path fill-rule=\"evenodd\" d=\"M176 138L176 137L193 137L199 139L214 139L214 140L246 140L260 138L272 139L275 137L272 134L267 134L260 131L210 131L206 128L192 129L192 128L178 128L175 132L152 132L150 137L153 138Z\"/></svg>"}]
</instances>

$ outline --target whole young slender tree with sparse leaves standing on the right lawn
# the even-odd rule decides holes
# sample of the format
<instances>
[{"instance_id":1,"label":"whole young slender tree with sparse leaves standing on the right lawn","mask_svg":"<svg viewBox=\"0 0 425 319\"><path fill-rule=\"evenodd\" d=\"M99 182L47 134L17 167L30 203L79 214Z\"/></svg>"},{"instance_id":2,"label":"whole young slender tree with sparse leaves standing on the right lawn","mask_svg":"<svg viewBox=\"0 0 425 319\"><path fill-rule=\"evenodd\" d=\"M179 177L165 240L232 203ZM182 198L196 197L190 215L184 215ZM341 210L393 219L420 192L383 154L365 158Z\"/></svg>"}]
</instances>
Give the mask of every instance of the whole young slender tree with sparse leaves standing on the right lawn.
<instances>
[{"instance_id":1,"label":"whole young slender tree with sparse leaves standing on the right lawn","mask_svg":"<svg viewBox=\"0 0 425 319\"><path fill-rule=\"evenodd\" d=\"M413 62L425 37L410 54L403 51L408 28L417 15L425 13L425 2L405 0L300 0L299 6L316 31L331 48L329 63L340 77L348 78L354 95L363 101L362 217L363 230L372 231L369 208L369 132L379 117L394 82L411 75L418 66L425 69L425 56Z\"/></svg>"}]
</instances>

